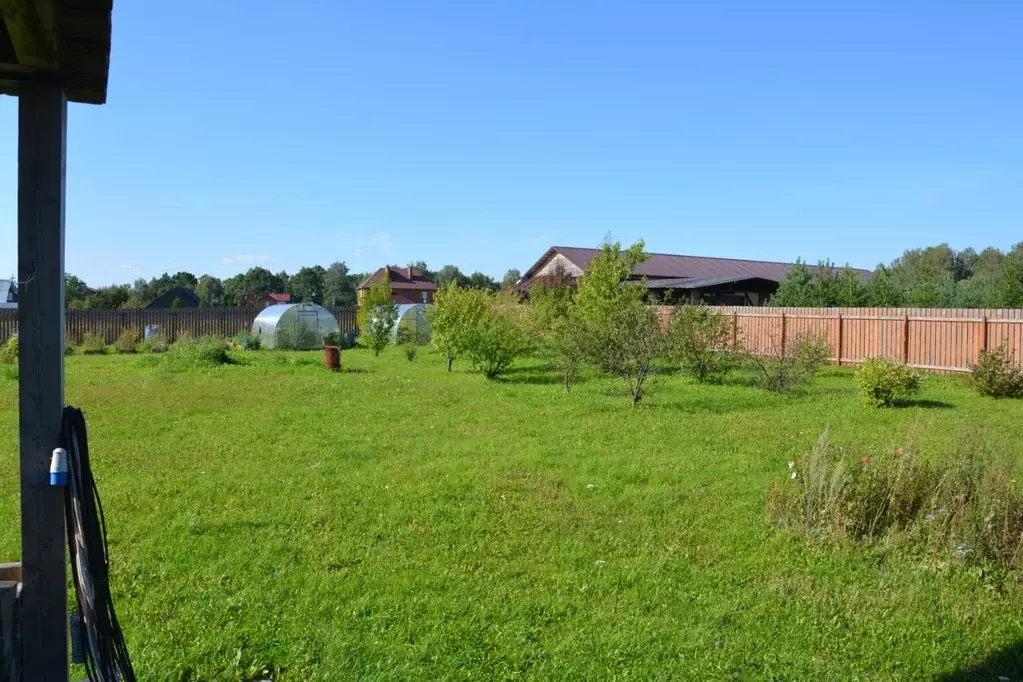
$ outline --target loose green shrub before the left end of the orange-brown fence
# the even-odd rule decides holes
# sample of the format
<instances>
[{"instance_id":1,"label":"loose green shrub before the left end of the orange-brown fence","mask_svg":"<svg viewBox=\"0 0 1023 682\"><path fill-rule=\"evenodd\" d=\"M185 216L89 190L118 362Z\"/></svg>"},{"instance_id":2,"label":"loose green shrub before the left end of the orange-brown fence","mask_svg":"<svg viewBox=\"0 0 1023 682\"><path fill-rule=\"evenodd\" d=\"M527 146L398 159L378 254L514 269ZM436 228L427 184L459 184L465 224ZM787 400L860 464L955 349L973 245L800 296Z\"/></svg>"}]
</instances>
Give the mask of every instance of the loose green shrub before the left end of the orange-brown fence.
<instances>
[{"instance_id":1,"label":"loose green shrub before the left end of the orange-brown fence","mask_svg":"<svg viewBox=\"0 0 1023 682\"><path fill-rule=\"evenodd\" d=\"M731 320L709 306L680 306L668 322L665 358L701 383L717 383L736 366Z\"/></svg>"}]
</instances>

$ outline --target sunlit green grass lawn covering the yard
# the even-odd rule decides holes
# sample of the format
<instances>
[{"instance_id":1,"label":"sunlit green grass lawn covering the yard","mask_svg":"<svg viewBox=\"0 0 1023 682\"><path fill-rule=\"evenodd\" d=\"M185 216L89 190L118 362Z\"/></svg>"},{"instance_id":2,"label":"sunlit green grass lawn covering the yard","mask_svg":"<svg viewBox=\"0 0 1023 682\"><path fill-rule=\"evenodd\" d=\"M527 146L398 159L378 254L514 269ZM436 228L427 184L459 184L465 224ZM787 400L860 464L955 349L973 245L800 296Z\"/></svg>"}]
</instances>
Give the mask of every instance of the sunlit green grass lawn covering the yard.
<instances>
[{"instance_id":1,"label":"sunlit green grass lawn covering the yard","mask_svg":"<svg viewBox=\"0 0 1023 682\"><path fill-rule=\"evenodd\" d=\"M977 427L1023 452L1021 401L928 377L919 406L876 410L829 369L798 398L658 376L631 409L535 361L487 382L434 353L345 352L341 374L243 357L68 359L141 680L1023 676L1018 583L764 519L826 429L864 454L940 457ZM16 406L0 380L0 560Z\"/></svg>"}]
</instances>

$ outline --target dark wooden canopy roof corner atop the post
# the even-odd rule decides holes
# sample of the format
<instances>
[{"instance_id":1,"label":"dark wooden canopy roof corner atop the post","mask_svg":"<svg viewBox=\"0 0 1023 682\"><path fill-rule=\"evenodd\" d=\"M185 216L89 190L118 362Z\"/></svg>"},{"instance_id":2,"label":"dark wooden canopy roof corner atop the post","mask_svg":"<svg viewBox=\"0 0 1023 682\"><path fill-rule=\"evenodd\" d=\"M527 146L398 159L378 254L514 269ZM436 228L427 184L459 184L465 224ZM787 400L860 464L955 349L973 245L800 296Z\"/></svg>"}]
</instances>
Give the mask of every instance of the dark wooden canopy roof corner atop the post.
<instances>
[{"instance_id":1,"label":"dark wooden canopy roof corner atop the post","mask_svg":"<svg viewBox=\"0 0 1023 682\"><path fill-rule=\"evenodd\" d=\"M102 104L114 0L0 0L0 94L57 83L69 101Z\"/></svg>"}]
</instances>

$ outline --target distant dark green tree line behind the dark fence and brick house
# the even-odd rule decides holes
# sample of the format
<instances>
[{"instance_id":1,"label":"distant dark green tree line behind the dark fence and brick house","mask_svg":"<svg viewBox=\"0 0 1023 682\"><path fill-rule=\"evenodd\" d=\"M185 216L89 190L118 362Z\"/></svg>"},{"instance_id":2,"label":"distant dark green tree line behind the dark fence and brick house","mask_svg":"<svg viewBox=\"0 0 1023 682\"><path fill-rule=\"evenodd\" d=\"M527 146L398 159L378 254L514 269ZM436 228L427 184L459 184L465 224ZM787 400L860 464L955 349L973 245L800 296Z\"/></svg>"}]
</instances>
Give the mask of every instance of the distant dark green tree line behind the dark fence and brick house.
<instances>
[{"instance_id":1,"label":"distant dark green tree line behind the dark fence and brick house","mask_svg":"<svg viewBox=\"0 0 1023 682\"><path fill-rule=\"evenodd\" d=\"M408 267L422 271L438 285L455 282L462 287L476 287L496 291L514 286L519 280L518 270L508 270L500 282L482 272L465 275L454 265L431 270L417 261ZM271 272L262 267L220 279L213 275L196 277L190 272L164 273L146 280L139 277L130 284L114 284L96 289L73 274L64 276L64 290L70 308L144 308L176 286L195 292L199 306L224 308L249 305L249 294L258 299L267 293L287 293L297 303L315 303L326 306L354 306L355 290L369 273L353 273L343 261L324 268L319 265L304 267L293 275L284 271Z\"/></svg>"}]
</instances>

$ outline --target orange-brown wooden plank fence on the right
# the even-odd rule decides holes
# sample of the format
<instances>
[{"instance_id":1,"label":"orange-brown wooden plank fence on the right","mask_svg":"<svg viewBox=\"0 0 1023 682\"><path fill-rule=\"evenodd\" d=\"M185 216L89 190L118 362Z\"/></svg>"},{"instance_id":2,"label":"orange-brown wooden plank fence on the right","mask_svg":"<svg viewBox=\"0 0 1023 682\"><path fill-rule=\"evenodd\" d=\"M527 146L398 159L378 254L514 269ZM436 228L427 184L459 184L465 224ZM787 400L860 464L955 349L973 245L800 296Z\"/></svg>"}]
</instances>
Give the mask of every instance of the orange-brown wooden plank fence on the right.
<instances>
[{"instance_id":1,"label":"orange-brown wooden plank fence on the right","mask_svg":"<svg viewBox=\"0 0 1023 682\"><path fill-rule=\"evenodd\" d=\"M670 315L672 308L662 308ZM887 356L936 372L968 372L984 349L1003 344L1023 365L1023 310L944 308L751 308L722 306L731 318L731 344L772 354L815 334L828 340L832 362L855 365Z\"/></svg>"}]
</instances>

